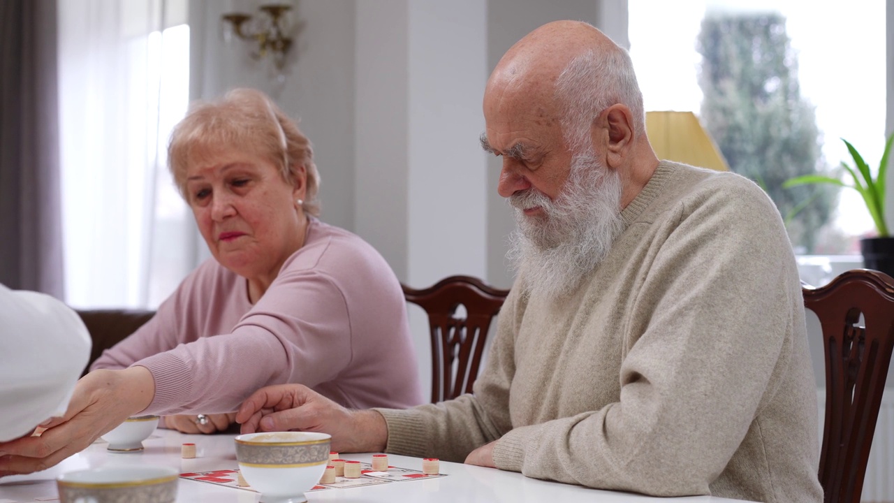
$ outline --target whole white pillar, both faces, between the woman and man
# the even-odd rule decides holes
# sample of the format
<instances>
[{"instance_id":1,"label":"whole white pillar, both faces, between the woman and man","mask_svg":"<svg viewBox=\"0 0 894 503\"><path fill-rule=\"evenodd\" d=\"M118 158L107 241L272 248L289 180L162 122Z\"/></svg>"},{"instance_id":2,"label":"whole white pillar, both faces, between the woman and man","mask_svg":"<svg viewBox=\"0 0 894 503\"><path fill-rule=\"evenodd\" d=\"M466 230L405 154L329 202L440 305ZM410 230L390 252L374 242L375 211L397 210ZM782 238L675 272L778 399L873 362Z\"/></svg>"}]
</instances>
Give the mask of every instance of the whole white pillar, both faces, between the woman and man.
<instances>
[{"instance_id":1,"label":"whole white pillar, both faces, between the woman and man","mask_svg":"<svg viewBox=\"0 0 894 503\"><path fill-rule=\"evenodd\" d=\"M357 4L355 231L410 286L485 276L484 20L477 0ZM426 317L409 315L428 388Z\"/></svg>"}]
</instances>

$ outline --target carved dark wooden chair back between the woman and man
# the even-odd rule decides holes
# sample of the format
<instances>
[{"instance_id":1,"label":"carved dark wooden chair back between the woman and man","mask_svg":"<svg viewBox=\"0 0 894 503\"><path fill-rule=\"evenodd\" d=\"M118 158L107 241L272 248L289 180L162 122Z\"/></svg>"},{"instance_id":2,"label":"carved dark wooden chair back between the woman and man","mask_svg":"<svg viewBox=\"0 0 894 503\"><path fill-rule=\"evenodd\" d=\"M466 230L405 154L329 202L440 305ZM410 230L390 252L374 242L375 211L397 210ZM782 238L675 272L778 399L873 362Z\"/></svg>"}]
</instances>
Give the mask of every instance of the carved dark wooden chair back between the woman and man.
<instances>
[{"instance_id":1,"label":"carved dark wooden chair back between the woman and man","mask_svg":"<svg viewBox=\"0 0 894 503\"><path fill-rule=\"evenodd\" d=\"M493 288L477 277L468 276L445 277L421 290L401 286L407 301L419 305L428 314L432 403L471 393L485 353L488 328L509 290Z\"/></svg>"}]
</instances>

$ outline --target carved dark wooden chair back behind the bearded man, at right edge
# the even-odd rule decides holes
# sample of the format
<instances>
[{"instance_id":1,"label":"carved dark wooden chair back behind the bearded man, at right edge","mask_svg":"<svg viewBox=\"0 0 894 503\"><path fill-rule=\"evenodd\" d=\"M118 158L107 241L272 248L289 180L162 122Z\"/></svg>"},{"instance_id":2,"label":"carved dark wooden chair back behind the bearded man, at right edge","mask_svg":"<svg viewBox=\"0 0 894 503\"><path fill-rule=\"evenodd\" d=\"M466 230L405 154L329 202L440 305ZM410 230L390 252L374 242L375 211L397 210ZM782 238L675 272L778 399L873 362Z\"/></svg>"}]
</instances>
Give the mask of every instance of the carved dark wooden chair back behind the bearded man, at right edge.
<instances>
[{"instance_id":1,"label":"carved dark wooden chair back behind the bearded man, at right edge","mask_svg":"<svg viewBox=\"0 0 894 503\"><path fill-rule=\"evenodd\" d=\"M858 503L894 348L894 278L855 269L802 292L820 320L826 360L824 501Z\"/></svg>"}]
</instances>

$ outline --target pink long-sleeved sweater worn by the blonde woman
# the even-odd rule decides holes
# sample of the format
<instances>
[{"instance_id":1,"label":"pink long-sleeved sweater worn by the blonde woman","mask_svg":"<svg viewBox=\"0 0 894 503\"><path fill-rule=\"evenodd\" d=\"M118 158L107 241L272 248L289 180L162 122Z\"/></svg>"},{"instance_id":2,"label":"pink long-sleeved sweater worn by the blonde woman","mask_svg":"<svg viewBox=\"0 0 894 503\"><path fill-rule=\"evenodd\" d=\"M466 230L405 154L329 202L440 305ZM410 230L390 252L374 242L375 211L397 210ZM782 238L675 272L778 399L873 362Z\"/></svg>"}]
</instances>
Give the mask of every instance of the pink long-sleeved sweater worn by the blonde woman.
<instances>
[{"instance_id":1,"label":"pink long-sleeved sweater worn by the blonde woman","mask_svg":"<svg viewBox=\"0 0 894 503\"><path fill-rule=\"evenodd\" d=\"M316 218L255 305L243 277L207 260L90 370L131 365L156 381L144 413L232 412L257 388L287 382L348 407L424 401L392 269L357 235Z\"/></svg>"}]
</instances>

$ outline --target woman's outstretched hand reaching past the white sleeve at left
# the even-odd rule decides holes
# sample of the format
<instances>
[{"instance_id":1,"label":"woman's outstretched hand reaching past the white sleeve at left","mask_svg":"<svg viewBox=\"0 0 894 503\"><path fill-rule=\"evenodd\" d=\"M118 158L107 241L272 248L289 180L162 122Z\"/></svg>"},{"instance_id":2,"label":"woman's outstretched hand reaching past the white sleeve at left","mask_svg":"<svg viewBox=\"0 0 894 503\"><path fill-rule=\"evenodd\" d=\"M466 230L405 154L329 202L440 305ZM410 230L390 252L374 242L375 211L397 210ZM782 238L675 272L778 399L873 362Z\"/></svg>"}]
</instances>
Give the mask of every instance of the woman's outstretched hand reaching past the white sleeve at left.
<instances>
[{"instance_id":1,"label":"woman's outstretched hand reaching past the white sleeve at left","mask_svg":"<svg viewBox=\"0 0 894 503\"><path fill-rule=\"evenodd\" d=\"M43 424L39 437L0 443L0 476L57 465L145 409L155 392L146 367L90 372L75 386L65 415Z\"/></svg>"}]
</instances>

